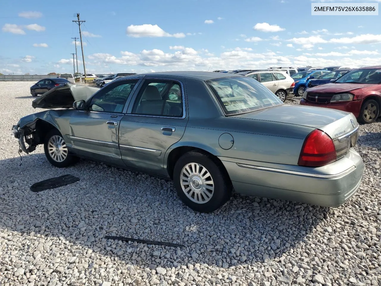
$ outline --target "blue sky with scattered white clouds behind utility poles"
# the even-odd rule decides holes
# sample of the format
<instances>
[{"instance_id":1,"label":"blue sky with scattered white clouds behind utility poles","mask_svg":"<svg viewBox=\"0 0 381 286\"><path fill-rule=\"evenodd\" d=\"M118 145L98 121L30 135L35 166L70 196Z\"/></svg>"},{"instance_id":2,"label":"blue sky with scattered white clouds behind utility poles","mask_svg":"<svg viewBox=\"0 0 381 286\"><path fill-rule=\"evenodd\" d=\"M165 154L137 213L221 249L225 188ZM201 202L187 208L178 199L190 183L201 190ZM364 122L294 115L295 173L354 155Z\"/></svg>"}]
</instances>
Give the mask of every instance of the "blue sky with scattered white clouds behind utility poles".
<instances>
[{"instance_id":1,"label":"blue sky with scattered white clouds behind utility poles","mask_svg":"<svg viewBox=\"0 0 381 286\"><path fill-rule=\"evenodd\" d=\"M351 0L2 1L0 72L73 73L76 13L88 73L381 64L381 16L311 16L319 2Z\"/></svg>"}]
</instances>

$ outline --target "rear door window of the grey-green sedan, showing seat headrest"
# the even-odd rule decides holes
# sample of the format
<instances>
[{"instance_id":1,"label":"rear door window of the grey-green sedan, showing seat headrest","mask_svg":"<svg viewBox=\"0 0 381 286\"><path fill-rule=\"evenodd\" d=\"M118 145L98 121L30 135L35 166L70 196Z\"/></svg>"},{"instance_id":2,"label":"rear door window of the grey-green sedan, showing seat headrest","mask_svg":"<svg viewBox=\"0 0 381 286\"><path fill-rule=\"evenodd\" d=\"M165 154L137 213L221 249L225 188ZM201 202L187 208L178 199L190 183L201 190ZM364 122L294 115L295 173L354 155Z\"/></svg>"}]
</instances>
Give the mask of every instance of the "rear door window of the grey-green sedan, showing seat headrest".
<instances>
[{"instance_id":1,"label":"rear door window of the grey-green sedan, showing seat headrest","mask_svg":"<svg viewBox=\"0 0 381 286\"><path fill-rule=\"evenodd\" d=\"M182 92L178 82L146 81L136 97L132 113L182 117Z\"/></svg>"}]
</instances>

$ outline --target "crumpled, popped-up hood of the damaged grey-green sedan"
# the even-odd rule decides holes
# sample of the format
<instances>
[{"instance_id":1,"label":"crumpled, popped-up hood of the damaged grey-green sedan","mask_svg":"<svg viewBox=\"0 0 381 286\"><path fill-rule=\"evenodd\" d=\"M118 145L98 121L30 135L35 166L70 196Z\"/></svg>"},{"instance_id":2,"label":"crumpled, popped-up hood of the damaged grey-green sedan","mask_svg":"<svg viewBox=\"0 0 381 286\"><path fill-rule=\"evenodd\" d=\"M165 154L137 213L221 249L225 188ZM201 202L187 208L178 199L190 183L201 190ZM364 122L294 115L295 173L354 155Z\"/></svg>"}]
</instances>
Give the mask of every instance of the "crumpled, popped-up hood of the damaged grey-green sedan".
<instances>
[{"instance_id":1,"label":"crumpled, popped-up hood of the damaged grey-green sedan","mask_svg":"<svg viewBox=\"0 0 381 286\"><path fill-rule=\"evenodd\" d=\"M48 90L36 98L32 101L32 107L45 109L72 108L74 101L87 100L98 90L99 88L96 87L87 87L67 82Z\"/></svg>"}]
</instances>

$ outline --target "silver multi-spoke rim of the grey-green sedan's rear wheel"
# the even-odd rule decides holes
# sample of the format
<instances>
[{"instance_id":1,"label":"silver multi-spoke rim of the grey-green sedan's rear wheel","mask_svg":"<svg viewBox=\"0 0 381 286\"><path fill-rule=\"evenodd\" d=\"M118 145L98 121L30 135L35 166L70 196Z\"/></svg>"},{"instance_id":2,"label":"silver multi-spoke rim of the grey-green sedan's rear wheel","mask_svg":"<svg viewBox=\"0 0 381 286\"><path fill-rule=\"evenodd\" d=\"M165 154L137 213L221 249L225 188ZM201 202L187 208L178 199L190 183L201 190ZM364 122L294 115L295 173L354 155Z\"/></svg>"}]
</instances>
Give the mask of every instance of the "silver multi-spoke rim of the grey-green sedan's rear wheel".
<instances>
[{"instance_id":1,"label":"silver multi-spoke rim of the grey-green sedan's rear wheel","mask_svg":"<svg viewBox=\"0 0 381 286\"><path fill-rule=\"evenodd\" d=\"M205 204L213 197L213 178L203 165L198 163L185 165L181 170L180 181L182 191L192 202Z\"/></svg>"}]
</instances>

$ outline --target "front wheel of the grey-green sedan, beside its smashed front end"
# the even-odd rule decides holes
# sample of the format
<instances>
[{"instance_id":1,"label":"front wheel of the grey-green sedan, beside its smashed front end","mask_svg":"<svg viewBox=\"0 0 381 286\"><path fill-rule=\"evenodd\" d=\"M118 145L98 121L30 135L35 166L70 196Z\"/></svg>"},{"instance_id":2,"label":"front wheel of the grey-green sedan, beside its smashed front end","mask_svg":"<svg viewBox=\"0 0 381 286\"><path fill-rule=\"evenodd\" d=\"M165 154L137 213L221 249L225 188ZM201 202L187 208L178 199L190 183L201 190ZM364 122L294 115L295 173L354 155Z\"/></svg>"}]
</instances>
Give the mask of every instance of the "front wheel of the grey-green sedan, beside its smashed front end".
<instances>
[{"instance_id":1,"label":"front wheel of the grey-green sedan, beside its smashed front end","mask_svg":"<svg viewBox=\"0 0 381 286\"><path fill-rule=\"evenodd\" d=\"M69 154L64 138L57 129L52 129L46 134L44 151L50 164L58 168L68 167L77 159L74 155Z\"/></svg>"}]
</instances>

